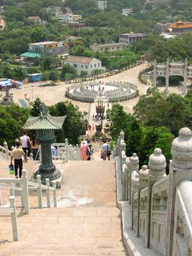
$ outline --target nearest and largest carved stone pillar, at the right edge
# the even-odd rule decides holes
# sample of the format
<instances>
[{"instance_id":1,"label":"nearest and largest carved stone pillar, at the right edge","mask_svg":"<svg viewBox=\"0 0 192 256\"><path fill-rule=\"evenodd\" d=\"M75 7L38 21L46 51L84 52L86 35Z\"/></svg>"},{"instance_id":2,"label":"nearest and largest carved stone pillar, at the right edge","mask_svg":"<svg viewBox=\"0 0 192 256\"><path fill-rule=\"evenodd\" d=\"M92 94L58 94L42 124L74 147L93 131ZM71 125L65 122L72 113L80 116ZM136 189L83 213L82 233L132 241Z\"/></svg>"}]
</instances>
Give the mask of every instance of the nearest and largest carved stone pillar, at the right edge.
<instances>
[{"instance_id":1,"label":"nearest and largest carved stone pillar, at the right edge","mask_svg":"<svg viewBox=\"0 0 192 256\"><path fill-rule=\"evenodd\" d=\"M168 214L166 230L166 256L172 255L173 227L175 212L175 191L182 180L192 180L192 132L189 128L179 131L179 138L172 142L172 157L170 161Z\"/></svg>"}]
</instances>

